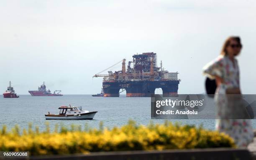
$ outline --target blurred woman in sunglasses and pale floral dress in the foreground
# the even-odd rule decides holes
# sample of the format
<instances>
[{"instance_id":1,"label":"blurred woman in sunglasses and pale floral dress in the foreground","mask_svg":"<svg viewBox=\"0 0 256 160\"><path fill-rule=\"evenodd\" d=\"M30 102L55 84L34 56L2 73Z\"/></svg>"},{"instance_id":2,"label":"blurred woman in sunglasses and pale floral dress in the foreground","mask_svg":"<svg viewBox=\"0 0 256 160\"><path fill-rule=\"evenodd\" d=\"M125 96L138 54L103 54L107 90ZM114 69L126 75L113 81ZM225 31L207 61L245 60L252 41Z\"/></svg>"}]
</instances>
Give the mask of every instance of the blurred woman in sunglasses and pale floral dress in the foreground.
<instances>
[{"instance_id":1,"label":"blurred woman in sunglasses and pale floral dress in the foreground","mask_svg":"<svg viewBox=\"0 0 256 160\"><path fill-rule=\"evenodd\" d=\"M230 118L231 112L236 106L236 98L232 99L228 94L241 94L239 84L239 68L236 56L239 55L242 44L239 37L229 37L221 50L220 56L203 68L203 73L209 78L215 79L217 89L215 91L215 103L217 106L216 128L235 140L239 148L246 147L253 140L251 120ZM241 107L240 107L241 108Z\"/></svg>"}]
</instances>

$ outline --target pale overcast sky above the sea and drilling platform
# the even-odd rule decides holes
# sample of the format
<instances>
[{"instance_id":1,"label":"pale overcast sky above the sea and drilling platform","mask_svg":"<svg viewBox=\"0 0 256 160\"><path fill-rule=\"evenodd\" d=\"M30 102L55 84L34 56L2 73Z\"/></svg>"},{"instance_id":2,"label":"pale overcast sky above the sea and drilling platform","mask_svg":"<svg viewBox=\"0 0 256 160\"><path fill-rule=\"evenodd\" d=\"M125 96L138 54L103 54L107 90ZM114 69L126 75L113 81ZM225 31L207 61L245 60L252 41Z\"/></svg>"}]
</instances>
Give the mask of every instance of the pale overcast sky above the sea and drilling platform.
<instances>
[{"instance_id":1,"label":"pale overcast sky above the sea and drilling platform","mask_svg":"<svg viewBox=\"0 0 256 160\"><path fill-rule=\"evenodd\" d=\"M94 74L156 52L159 66L179 72L179 94L202 93L202 67L238 35L241 90L255 94L255 8L255 0L2 0L0 92L11 80L18 95L43 81L63 94L99 93Z\"/></svg>"}]
</instances>

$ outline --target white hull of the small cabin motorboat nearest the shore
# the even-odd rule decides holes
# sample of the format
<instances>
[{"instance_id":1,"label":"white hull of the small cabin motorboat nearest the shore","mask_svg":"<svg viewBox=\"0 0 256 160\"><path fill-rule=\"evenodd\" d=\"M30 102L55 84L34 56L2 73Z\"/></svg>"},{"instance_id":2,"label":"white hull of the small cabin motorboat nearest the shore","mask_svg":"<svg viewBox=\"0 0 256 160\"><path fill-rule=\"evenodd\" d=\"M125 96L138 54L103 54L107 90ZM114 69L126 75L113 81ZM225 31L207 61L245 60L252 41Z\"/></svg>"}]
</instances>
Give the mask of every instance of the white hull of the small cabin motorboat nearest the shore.
<instances>
[{"instance_id":1,"label":"white hull of the small cabin motorboat nearest the shore","mask_svg":"<svg viewBox=\"0 0 256 160\"><path fill-rule=\"evenodd\" d=\"M45 115L45 119L46 120L92 120L96 113L97 111L87 112L87 113L78 114L77 116L48 114L48 115Z\"/></svg>"}]
</instances>

